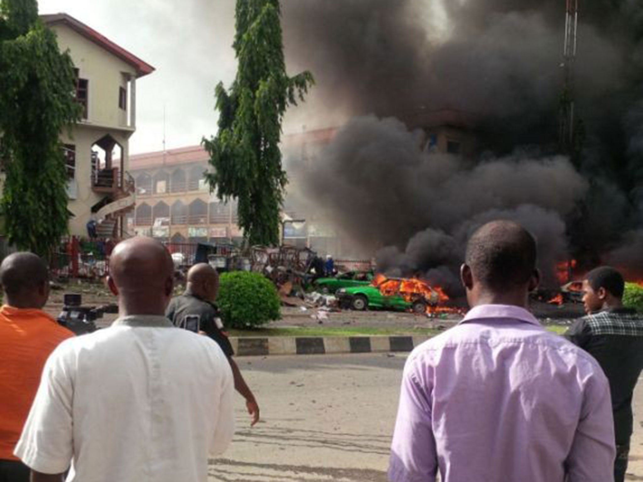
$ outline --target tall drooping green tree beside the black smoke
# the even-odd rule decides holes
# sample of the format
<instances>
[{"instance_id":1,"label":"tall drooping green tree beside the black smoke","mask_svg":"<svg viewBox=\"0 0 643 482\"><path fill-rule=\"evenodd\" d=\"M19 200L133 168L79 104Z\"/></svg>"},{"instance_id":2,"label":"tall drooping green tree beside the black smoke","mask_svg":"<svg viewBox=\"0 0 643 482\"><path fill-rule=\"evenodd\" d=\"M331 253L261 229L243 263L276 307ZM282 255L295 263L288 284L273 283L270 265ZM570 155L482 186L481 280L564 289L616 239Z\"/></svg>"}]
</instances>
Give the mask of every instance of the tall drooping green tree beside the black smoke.
<instances>
[{"instance_id":1,"label":"tall drooping green tree beside the black smoke","mask_svg":"<svg viewBox=\"0 0 643 482\"><path fill-rule=\"evenodd\" d=\"M279 150L281 124L314 83L305 71L289 77L278 0L237 0L233 48L239 67L226 91L217 85L219 132L203 139L215 172L210 189L222 201L239 200L239 226L249 244L279 242L279 213L287 176Z\"/></svg>"}]
</instances>

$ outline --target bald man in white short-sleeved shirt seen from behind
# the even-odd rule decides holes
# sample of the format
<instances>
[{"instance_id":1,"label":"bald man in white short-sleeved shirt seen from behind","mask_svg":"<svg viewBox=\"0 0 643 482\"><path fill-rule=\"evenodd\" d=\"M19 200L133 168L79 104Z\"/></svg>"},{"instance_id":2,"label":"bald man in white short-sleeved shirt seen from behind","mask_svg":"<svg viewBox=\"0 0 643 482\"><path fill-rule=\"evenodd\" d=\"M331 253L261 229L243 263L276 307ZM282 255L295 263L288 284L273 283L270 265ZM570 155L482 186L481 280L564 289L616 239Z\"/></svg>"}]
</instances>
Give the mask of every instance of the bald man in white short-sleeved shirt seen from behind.
<instances>
[{"instance_id":1,"label":"bald man in white short-sleeved shirt seen from behind","mask_svg":"<svg viewBox=\"0 0 643 482\"><path fill-rule=\"evenodd\" d=\"M165 317L174 266L163 245L116 245L113 325L63 342L42 375L15 454L32 481L206 482L231 442L230 364L210 338Z\"/></svg>"}]
</instances>

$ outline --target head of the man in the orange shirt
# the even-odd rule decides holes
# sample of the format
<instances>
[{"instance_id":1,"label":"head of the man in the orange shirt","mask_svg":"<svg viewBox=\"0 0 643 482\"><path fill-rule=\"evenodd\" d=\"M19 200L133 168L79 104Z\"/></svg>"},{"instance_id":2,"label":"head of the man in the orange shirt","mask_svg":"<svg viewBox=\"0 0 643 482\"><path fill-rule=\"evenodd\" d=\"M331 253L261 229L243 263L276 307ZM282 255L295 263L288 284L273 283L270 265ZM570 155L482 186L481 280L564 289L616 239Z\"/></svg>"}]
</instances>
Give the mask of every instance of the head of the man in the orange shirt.
<instances>
[{"instance_id":1,"label":"head of the man in the orange shirt","mask_svg":"<svg viewBox=\"0 0 643 482\"><path fill-rule=\"evenodd\" d=\"M17 308L42 308L49 298L49 271L33 253L13 253L0 265L6 303Z\"/></svg>"}]
</instances>

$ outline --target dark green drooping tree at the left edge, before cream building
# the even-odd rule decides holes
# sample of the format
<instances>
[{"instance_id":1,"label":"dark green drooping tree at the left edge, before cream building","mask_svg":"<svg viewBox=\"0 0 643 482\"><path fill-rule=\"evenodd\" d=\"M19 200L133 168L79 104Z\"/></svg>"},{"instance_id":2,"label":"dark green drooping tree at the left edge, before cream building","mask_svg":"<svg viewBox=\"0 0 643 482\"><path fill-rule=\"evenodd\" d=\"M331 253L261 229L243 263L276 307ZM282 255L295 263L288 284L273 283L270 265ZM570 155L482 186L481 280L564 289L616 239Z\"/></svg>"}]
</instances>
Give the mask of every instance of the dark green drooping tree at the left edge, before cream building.
<instances>
[{"instance_id":1,"label":"dark green drooping tree at the left edge, before cream building","mask_svg":"<svg viewBox=\"0 0 643 482\"><path fill-rule=\"evenodd\" d=\"M80 118L68 53L35 0L0 1L0 208L19 249L48 255L67 232L67 175L59 135Z\"/></svg>"}]
</instances>

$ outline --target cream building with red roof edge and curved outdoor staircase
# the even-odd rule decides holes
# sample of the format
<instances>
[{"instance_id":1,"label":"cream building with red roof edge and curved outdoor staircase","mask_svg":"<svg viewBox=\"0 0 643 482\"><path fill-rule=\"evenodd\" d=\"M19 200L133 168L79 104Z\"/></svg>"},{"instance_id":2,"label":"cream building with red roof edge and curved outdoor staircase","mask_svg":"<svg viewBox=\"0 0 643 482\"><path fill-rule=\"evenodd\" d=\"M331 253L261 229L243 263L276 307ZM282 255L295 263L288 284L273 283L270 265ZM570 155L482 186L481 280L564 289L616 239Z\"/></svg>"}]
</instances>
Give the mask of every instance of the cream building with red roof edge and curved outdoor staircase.
<instances>
[{"instance_id":1,"label":"cream building with red roof edge and curved outdoor staircase","mask_svg":"<svg viewBox=\"0 0 643 482\"><path fill-rule=\"evenodd\" d=\"M136 130L136 80L154 67L66 13L41 15L69 51L77 75L82 119L62 132L69 176L69 233L87 236L95 220L99 236L123 234L123 217L134 209L129 138Z\"/></svg>"}]
</instances>

